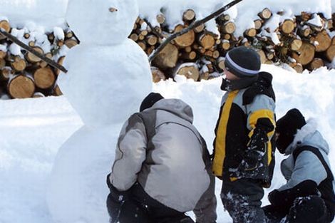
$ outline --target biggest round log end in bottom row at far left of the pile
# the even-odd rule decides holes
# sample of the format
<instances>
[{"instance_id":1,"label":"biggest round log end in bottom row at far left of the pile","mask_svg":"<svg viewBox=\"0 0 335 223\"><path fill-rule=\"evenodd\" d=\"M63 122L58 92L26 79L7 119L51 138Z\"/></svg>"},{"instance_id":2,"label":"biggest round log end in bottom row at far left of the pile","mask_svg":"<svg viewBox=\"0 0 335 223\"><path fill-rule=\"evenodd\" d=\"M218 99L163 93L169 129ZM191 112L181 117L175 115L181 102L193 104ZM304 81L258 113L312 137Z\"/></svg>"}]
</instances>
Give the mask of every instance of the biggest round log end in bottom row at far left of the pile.
<instances>
[{"instance_id":1,"label":"biggest round log end in bottom row at far left of the pile","mask_svg":"<svg viewBox=\"0 0 335 223\"><path fill-rule=\"evenodd\" d=\"M11 98L31 98L35 92L35 84L31 78L18 75L9 81L7 89Z\"/></svg>"}]
</instances>

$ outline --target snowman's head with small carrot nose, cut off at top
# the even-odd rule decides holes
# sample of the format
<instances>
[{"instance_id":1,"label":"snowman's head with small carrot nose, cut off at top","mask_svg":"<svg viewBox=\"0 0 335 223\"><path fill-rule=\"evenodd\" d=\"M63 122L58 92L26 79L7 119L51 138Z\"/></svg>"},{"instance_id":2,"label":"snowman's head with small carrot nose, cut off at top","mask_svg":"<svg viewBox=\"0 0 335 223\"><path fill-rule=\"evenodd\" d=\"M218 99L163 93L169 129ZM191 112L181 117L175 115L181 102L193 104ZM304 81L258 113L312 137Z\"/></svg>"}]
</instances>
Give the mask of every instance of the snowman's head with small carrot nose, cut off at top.
<instances>
[{"instance_id":1,"label":"snowman's head with small carrot nose, cut off at top","mask_svg":"<svg viewBox=\"0 0 335 223\"><path fill-rule=\"evenodd\" d=\"M81 44L123 42L138 17L137 0L69 0L66 21Z\"/></svg>"}]
</instances>

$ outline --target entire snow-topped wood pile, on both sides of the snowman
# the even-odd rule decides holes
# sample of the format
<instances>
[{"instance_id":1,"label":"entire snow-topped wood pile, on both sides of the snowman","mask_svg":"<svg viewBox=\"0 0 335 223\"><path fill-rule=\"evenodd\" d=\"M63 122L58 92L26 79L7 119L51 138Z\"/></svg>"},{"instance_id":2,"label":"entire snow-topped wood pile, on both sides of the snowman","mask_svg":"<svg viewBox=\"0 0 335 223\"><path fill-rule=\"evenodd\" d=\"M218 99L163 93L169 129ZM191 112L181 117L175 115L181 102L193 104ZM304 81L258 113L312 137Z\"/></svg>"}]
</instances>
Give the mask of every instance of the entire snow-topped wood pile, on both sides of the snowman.
<instances>
[{"instance_id":1,"label":"entire snow-topped wood pile, on both sides of the snowman","mask_svg":"<svg viewBox=\"0 0 335 223\"><path fill-rule=\"evenodd\" d=\"M284 13L269 9L260 11L257 19L254 19L254 27L245 30L242 36L237 36L236 24L227 14L215 19L218 32L213 33L202 24L178 36L153 60L153 82L174 78L176 74L195 81L221 76L227 51L237 46L255 48L262 63L287 63L299 73L304 69L313 71L329 65L335 58L335 37L331 37L334 36L331 32L335 31L335 14L332 19L326 19L322 14L301 12L287 19ZM274 16L282 18L277 27L269 25L273 24ZM138 18L129 38L150 55L165 38L190 26L196 19L197 15L192 9L186 10L180 19L182 22L173 28L166 24L164 14L156 17L158 26ZM0 21L0 28L13 35L24 31L21 41L59 64L65 58L61 49L65 46L72 48L79 43L69 28L61 31L54 29L51 33L45 33L51 47L44 51L46 43L36 39L27 29L12 28L5 20ZM0 34L0 98L61 95L56 85L60 72L24 49L15 51L18 47Z\"/></svg>"}]
</instances>

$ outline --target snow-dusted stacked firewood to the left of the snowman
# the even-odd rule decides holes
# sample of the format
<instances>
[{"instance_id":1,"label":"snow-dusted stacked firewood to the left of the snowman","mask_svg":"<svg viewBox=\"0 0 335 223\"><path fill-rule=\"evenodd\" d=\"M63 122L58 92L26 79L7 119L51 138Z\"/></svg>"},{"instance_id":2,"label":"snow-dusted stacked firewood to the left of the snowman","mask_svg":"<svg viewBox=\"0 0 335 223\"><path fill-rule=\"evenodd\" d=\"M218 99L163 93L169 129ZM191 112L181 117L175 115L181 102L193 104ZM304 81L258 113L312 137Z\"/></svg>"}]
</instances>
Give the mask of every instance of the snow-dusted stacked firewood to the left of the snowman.
<instances>
[{"instance_id":1,"label":"snow-dusted stacked firewood to the left of the snowman","mask_svg":"<svg viewBox=\"0 0 335 223\"><path fill-rule=\"evenodd\" d=\"M72 48L79 43L72 31L56 28L43 37L35 37L26 28L11 28L9 21L0 21L0 28L11 33L38 53L62 64L64 47ZM18 34L21 33L21 34ZM21 36L20 36L21 35ZM47 49L47 51L43 50ZM35 98L47 95L61 95L56 85L59 71L49 66L41 58L25 51L0 34L0 97Z\"/></svg>"}]
</instances>

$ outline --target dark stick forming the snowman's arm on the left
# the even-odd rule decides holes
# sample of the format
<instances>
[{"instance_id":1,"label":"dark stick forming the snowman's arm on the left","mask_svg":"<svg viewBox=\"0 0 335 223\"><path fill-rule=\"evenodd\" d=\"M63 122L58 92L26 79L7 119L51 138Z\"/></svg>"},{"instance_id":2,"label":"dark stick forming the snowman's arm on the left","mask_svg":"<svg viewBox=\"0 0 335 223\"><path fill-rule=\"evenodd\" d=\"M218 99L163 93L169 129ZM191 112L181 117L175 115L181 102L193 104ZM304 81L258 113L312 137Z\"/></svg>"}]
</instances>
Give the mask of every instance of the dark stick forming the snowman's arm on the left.
<instances>
[{"instance_id":1,"label":"dark stick forming the snowman's arm on the left","mask_svg":"<svg viewBox=\"0 0 335 223\"><path fill-rule=\"evenodd\" d=\"M19 45L22 48L24 48L26 51L29 51L30 53L33 53L33 55L37 56L38 58L41 58L42 61L46 61L46 63L48 63L53 68L56 68L56 69L58 69L60 71L63 71L63 73L67 73L68 72L66 70L66 68L64 68L60 64L56 63L55 61L51 60L50 58L47 58L46 56L42 55L41 53L38 53L37 51L35 51L30 46L27 46L22 41L19 41L19 39L16 38L15 36L13 36L10 33L7 33L6 31L4 31L4 29L0 28L0 33L2 35L6 36L6 38L9 38L9 40L11 40L13 43L16 43L17 45Z\"/></svg>"}]
</instances>

